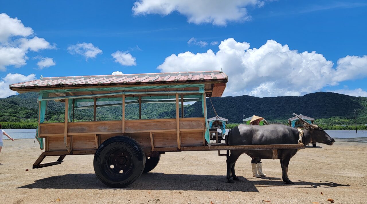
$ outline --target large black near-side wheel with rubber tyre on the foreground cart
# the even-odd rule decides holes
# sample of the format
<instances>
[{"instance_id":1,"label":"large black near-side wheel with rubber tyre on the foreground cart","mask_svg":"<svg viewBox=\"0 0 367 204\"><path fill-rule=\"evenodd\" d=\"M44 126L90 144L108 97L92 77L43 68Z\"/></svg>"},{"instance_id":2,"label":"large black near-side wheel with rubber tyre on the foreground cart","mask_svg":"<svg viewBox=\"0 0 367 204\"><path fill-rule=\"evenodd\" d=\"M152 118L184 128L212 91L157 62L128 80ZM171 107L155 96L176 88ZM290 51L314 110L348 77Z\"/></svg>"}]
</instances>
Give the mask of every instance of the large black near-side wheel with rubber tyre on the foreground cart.
<instances>
[{"instance_id":1,"label":"large black near-side wheel with rubber tyre on the foreground cart","mask_svg":"<svg viewBox=\"0 0 367 204\"><path fill-rule=\"evenodd\" d=\"M95 152L93 166L102 183L121 188L140 177L145 166L145 153L131 137L111 137Z\"/></svg>"}]
</instances>

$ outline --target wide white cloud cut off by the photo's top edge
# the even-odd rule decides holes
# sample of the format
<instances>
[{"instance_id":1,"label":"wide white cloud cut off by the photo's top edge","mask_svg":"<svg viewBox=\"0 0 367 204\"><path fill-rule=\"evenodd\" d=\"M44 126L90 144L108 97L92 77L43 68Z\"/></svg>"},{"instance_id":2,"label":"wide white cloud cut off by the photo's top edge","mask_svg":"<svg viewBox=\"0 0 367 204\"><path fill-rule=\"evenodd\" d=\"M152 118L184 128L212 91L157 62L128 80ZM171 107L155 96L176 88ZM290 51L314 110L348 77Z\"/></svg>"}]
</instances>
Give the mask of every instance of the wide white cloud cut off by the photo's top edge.
<instances>
[{"instance_id":1,"label":"wide white cloud cut off by the photo's top edge","mask_svg":"<svg viewBox=\"0 0 367 204\"><path fill-rule=\"evenodd\" d=\"M261 0L138 0L132 7L134 15L169 15L178 12L188 18L188 22L212 23L225 26L228 22L250 19L246 7L261 7Z\"/></svg>"}]
</instances>

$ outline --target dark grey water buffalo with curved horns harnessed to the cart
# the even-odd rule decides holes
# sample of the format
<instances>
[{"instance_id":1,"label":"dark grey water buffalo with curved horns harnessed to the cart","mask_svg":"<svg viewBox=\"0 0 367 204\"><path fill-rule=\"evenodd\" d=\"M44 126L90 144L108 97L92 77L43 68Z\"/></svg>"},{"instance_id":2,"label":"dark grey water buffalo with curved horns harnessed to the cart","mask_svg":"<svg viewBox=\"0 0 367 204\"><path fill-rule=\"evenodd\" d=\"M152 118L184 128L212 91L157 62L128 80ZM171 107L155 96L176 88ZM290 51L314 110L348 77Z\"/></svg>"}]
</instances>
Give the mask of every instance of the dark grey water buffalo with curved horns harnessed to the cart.
<instances>
[{"instance_id":1,"label":"dark grey water buffalo with curved horns harnessed to the cart","mask_svg":"<svg viewBox=\"0 0 367 204\"><path fill-rule=\"evenodd\" d=\"M296 115L296 114L294 114ZM317 125L309 124L298 115L301 122L305 124L303 144L319 142L327 145L333 145L335 140L331 138L323 129ZM266 126L254 126L241 124L228 132L226 138L227 145L276 145L276 144L298 144L299 131L297 128L281 124L272 124ZM227 180L228 183L234 183L239 178L235 174L235 164L238 157L246 153L252 159L272 159L272 150L232 150L227 151ZM281 169L283 170L283 181L293 184L288 178L289 160L297 153L297 149L279 149L278 158ZM229 155L229 156L228 156ZM231 177L232 172L232 177ZM233 179L232 179L233 178Z\"/></svg>"}]
</instances>

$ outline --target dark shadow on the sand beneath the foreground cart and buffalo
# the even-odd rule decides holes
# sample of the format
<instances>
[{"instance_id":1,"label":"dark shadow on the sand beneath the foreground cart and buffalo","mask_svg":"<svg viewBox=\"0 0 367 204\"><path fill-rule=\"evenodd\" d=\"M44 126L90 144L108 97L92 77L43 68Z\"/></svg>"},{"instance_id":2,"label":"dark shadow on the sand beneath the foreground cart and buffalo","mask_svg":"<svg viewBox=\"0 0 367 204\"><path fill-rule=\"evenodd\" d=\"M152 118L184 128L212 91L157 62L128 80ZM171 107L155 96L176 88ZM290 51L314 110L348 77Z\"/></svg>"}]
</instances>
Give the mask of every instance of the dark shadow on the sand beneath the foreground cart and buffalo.
<instances>
[{"instance_id":1,"label":"dark shadow on the sand beneath the foreground cart and buffalo","mask_svg":"<svg viewBox=\"0 0 367 204\"><path fill-rule=\"evenodd\" d=\"M236 183L227 183L225 176L218 175L190 175L190 174L164 174L146 173L124 188L127 190L207 190L207 191L240 191L259 192L256 186L274 186L290 188L331 188L338 183L320 181L320 183L292 180L294 185L285 184L280 178L263 177L263 179L248 180L239 177ZM112 189L101 183L95 174L65 174L43 178L34 183L18 188L29 189Z\"/></svg>"}]
</instances>

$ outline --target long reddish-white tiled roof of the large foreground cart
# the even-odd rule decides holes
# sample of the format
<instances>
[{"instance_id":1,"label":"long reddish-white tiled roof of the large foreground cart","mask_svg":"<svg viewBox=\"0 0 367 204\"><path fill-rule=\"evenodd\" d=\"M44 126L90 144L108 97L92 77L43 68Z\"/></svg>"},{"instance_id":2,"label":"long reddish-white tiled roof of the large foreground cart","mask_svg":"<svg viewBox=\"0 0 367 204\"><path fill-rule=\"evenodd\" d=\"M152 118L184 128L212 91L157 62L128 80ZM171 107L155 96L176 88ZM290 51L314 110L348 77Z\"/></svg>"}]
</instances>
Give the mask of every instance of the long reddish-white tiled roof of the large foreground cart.
<instances>
[{"instance_id":1,"label":"long reddish-white tiled roof of the large foreground cart","mask_svg":"<svg viewBox=\"0 0 367 204\"><path fill-rule=\"evenodd\" d=\"M190 81L217 81L228 80L228 76L221 71L196 71L196 72L172 72L172 73L149 73L149 74L122 74L122 75L90 75L71 77L42 77L37 80L11 84L10 89L18 87L72 87L75 86L98 86L107 84L166 84L171 82Z\"/></svg>"}]
</instances>

